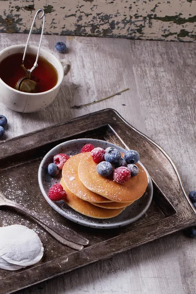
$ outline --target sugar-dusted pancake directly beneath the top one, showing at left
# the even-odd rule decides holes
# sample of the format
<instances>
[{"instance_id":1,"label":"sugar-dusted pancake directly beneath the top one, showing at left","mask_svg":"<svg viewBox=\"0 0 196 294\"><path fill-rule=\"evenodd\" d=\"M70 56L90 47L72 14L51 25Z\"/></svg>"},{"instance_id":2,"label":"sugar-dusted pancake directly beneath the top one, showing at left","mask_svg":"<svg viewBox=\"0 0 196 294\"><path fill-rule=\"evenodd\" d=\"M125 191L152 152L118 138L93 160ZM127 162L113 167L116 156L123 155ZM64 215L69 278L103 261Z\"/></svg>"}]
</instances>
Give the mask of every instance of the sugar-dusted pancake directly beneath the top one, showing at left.
<instances>
[{"instance_id":1,"label":"sugar-dusted pancake directly beneath the top one, showing at left","mask_svg":"<svg viewBox=\"0 0 196 294\"><path fill-rule=\"evenodd\" d=\"M107 198L100 196L90 190L88 190L80 181L78 177L78 165L81 159L81 155L84 153L79 153L72 156L65 164L62 170L62 177L65 185L68 189L76 196L82 200L89 202L110 202ZM85 167L86 170L87 167ZM88 169L87 169L88 171ZM128 202L128 201L127 201Z\"/></svg>"}]
</instances>

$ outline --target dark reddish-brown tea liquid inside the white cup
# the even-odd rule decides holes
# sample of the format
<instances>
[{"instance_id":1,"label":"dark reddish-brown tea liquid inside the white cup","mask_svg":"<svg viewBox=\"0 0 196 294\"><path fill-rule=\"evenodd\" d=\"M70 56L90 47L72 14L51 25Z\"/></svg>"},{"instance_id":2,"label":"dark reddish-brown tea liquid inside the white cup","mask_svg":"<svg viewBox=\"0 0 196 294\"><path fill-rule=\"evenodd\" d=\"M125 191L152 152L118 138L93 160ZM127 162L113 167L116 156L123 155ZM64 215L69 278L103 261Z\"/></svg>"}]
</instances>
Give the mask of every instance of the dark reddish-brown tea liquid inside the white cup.
<instances>
[{"instance_id":1,"label":"dark reddish-brown tea liquid inside the white cup","mask_svg":"<svg viewBox=\"0 0 196 294\"><path fill-rule=\"evenodd\" d=\"M18 80L25 76L21 64L23 53L9 55L0 62L0 78L10 87L15 88ZM25 68L31 69L35 63L36 55L26 53ZM38 66L31 73L31 79L37 83L36 93L41 93L52 89L58 80L58 73L54 66L45 58L38 58Z\"/></svg>"}]
</instances>

